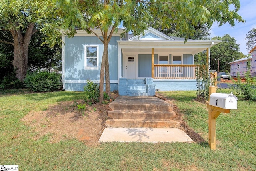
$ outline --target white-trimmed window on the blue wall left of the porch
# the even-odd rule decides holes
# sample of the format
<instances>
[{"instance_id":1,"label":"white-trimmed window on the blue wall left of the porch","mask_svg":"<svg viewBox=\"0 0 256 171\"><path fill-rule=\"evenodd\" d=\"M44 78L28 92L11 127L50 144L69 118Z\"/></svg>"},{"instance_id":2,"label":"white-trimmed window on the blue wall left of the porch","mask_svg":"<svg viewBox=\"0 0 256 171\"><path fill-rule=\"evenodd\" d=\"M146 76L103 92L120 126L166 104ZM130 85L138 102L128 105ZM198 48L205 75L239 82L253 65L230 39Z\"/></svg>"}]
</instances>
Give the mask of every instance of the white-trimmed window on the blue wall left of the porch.
<instances>
[{"instance_id":1,"label":"white-trimmed window on the blue wall left of the porch","mask_svg":"<svg viewBox=\"0 0 256 171\"><path fill-rule=\"evenodd\" d=\"M84 46L84 69L98 70L99 64L99 46L86 45Z\"/></svg>"}]
</instances>

